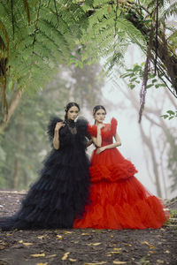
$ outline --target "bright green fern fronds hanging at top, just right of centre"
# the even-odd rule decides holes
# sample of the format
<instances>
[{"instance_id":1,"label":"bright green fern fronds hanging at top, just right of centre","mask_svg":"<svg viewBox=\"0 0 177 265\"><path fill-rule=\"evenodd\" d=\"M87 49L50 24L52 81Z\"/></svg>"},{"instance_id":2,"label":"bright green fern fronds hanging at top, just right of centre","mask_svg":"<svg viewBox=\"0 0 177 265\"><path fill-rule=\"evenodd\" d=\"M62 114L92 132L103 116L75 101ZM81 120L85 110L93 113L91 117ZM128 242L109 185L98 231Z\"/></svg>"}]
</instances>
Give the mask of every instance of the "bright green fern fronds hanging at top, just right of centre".
<instances>
[{"instance_id":1,"label":"bright green fern fronds hanging at top, just right of centre","mask_svg":"<svg viewBox=\"0 0 177 265\"><path fill-rule=\"evenodd\" d=\"M112 70L114 64L122 64L127 46L134 42L145 48L141 32L125 18L123 7L107 1L85 1L85 11L93 11L89 17L89 27L80 39L81 60L91 64L105 57L105 69Z\"/></svg>"}]
</instances>

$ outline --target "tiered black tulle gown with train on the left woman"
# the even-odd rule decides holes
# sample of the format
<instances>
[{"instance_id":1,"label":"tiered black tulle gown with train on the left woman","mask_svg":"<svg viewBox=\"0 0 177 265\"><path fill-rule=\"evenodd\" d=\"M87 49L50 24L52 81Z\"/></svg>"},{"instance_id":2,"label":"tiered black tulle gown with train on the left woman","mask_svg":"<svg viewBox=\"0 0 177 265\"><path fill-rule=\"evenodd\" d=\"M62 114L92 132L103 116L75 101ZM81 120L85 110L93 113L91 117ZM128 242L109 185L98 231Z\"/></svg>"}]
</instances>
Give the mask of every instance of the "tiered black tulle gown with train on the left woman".
<instances>
[{"instance_id":1,"label":"tiered black tulle gown with train on the left woman","mask_svg":"<svg viewBox=\"0 0 177 265\"><path fill-rule=\"evenodd\" d=\"M53 140L58 117L50 120ZM60 148L52 148L44 161L40 178L31 186L19 211L0 217L2 230L71 228L84 212L89 198L89 158L85 153L87 122L67 121L59 131Z\"/></svg>"}]
</instances>

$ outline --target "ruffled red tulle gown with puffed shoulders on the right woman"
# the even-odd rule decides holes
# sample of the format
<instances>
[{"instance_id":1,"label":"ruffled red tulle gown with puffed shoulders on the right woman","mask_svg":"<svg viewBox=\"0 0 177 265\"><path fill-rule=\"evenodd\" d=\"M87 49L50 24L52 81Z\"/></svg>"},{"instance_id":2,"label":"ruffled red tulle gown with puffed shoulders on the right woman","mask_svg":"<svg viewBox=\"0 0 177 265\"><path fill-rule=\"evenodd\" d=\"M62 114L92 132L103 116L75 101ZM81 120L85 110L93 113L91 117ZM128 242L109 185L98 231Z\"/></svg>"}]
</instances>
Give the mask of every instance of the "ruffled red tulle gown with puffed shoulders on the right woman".
<instances>
[{"instance_id":1,"label":"ruffled red tulle gown with puffed shoulders on the right woman","mask_svg":"<svg viewBox=\"0 0 177 265\"><path fill-rule=\"evenodd\" d=\"M112 118L102 131L102 146L112 144L117 120ZM89 133L96 137L96 125L89 125ZM90 165L90 201L81 219L73 228L146 229L160 228L168 219L163 203L134 177L137 170L117 148L106 149L96 155Z\"/></svg>"}]
</instances>

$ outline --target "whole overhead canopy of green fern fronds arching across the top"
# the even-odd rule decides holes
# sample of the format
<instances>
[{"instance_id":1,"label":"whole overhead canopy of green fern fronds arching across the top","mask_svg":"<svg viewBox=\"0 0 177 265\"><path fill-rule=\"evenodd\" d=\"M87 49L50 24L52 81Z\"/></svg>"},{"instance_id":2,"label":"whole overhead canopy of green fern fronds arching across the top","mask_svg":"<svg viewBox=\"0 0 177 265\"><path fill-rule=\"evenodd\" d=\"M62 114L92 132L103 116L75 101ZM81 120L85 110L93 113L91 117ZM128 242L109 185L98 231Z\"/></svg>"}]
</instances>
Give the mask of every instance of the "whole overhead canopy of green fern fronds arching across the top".
<instances>
[{"instance_id":1,"label":"whole overhead canopy of green fern fronds arching across the top","mask_svg":"<svg viewBox=\"0 0 177 265\"><path fill-rule=\"evenodd\" d=\"M33 93L58 64L92 64L104 57L106 71L123 64L130 43L147 51L149 62L177 96L177 14L170 0L16 0L0 2L0 85L8 112L7 90Z\"/></svg>"}]
</instances>

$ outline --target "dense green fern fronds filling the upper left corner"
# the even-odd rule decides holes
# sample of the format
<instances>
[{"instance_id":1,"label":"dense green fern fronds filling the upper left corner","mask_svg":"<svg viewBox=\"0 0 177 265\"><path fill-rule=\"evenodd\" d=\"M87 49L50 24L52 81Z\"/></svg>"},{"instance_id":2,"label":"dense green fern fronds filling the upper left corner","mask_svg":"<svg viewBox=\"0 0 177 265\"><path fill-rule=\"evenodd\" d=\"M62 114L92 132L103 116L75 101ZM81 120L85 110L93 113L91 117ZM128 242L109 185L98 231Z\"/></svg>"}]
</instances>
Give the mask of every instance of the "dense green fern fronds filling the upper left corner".
<instances>
[{"instance_id":1,"label":"dense green fern fronds filling the upper left corner","mask_svg":"<svg viewBox=\"0 0 177 265\"><path fill-rule=\"evenodd\" d=\"M0 18L6 87L13 84L29 94L48 82L58 64L69 61L87 27L85 12L68 1L19 0L11 5L4 0Z\"/></svg>"}]
</instances>

